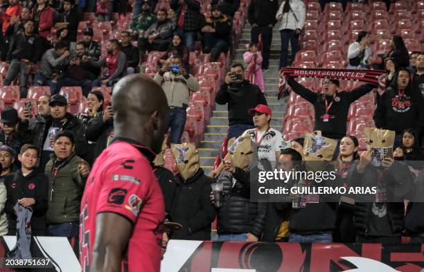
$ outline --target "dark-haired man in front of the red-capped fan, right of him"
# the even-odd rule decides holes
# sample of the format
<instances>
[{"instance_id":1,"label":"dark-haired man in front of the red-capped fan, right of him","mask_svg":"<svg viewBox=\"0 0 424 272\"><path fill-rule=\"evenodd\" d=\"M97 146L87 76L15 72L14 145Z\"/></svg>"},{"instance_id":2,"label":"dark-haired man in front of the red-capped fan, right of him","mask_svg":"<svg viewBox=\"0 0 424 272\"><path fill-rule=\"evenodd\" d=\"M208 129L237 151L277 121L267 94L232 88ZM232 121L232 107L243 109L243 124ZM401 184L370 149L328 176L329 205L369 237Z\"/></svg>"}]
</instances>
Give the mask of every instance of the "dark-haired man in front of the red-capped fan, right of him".
<instances>
[{"instance_id":1,"label":"dark-haired man in front of the red-capped fan, right of him","mask_svg":"<svg viewBox=\"0 0 424 272\"><path fill-rule=\"evenodd\" d=\"M299 163L302 156L299 152L292 148L281 150L279 156L278 167L290 171L299 169ZM270 202L267 203L265 213L265 225L263 230L263 242L288 242L289 230L288 224L290 212L292 210L291 203L288 202Z\"/></svg>"}]
</instances>

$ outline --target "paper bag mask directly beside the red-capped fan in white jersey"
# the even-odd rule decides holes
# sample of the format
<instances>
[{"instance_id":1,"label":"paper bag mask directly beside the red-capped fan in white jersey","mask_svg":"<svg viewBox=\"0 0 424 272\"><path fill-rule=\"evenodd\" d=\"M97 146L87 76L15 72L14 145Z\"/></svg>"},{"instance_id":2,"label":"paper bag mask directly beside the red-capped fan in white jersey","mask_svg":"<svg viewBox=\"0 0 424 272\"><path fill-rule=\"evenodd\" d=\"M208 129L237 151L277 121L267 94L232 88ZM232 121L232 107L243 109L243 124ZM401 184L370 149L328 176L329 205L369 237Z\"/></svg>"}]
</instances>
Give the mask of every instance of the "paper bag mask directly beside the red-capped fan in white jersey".
<instances>
[{"instance_id":1,"label":"paper bag mask directly beside the red-capped fan in white jersey","mask_svg":"<svg viewBox=\"0 0 424 272\"><path fill-rule=\"evenodd\" d=\"M253 146L249 136L240 136L229 140L228 152L233 158L235 167L245 169L249 166L253 154Z\"/></svg>"}]
</instances>

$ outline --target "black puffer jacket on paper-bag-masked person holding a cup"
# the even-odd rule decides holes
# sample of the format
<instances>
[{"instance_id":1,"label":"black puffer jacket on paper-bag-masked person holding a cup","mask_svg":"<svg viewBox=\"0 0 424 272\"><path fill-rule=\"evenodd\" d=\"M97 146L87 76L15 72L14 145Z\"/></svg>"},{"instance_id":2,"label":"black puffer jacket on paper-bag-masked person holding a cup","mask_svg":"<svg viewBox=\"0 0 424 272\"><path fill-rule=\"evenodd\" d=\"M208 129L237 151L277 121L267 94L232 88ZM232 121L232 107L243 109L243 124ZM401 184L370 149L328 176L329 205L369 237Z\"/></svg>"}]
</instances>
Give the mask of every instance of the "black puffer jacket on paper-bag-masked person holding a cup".
<instances>
[{"instance_id":1,"label":"black puffer jacket on paper-bag-masked person holding a cup","mask_svg":"<svg viewBox=\"0 0 424 272\"><path fill-rule=\"evenodd\" d=\"M239 176L237 178L240 179ZM233 175L227 171L220 174L218 182L224 184L224 199L218 210L218 234L251 233L260 238L263 233L265 203L251 202L249 187L237 179L233 185Z\"/></svg>"}]
</instances>

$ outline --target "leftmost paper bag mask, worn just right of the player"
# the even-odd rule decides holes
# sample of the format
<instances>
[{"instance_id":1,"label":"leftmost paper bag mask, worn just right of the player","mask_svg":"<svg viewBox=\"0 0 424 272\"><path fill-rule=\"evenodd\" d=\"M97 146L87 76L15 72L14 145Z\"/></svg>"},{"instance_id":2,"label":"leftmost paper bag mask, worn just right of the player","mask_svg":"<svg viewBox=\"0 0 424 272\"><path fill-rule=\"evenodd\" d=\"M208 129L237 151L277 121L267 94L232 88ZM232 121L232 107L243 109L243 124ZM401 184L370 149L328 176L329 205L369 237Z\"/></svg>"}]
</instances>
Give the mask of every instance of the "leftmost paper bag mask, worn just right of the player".
<instances>
[{"instance_id":1,"label":"leftmost paper bag mask, worn just right of the player","mask_svg":"<svg viewBox=\"0 0 424 272\"><path fill-rule=\"evenodd\" d=\"M171 149L173 150L179 175L184 181L187 181L199 170L199 152L193 143L182 143L181 145L172 144Z\"/></svg>"}]
</instances>

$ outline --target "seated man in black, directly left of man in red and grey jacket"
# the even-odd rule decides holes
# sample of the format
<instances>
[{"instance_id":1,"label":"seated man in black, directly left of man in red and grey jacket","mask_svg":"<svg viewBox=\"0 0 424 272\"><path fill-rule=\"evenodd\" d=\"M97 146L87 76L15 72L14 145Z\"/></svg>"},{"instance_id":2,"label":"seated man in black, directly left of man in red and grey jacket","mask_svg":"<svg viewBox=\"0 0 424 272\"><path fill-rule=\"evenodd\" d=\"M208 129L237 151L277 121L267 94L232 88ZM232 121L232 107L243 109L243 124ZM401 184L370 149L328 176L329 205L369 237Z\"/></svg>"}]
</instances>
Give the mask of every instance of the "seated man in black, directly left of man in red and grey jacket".
<instances>
[{"instance_id":1,"label":"seated man in black, directly left of man in red and grey jacket","mask_svg":"<svg viewBox=\"0 0 424 272\"><path fill-rule=\"evenodd\" d=\"M58 81L58 87L55 93L58 93L64 86L72 87L79 86L82 88L82 94L87 97L91 91L92 80L96 76L91 73L87 63L82 62L82 57L85 52L84 42L78 42L76 55L71 57L71 62L64 66L64 74Z\"/></svg>"}]
</instances>

